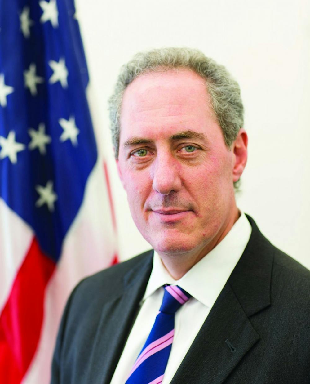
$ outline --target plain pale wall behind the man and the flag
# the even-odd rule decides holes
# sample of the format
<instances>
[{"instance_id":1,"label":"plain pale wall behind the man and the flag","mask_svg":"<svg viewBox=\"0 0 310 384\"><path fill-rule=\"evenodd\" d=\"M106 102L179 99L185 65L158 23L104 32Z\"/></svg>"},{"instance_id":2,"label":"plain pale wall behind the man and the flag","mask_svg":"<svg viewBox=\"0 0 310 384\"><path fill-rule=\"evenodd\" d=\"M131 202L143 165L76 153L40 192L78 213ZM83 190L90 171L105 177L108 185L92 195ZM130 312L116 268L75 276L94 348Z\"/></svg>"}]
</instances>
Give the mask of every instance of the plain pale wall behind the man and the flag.
<instances>
[{"instance_id":1,"label":"plain pale wall behind the man and the flag","mask_svg":"<svg viewBox=\"0 0 310 384\"><path fill-rule=\"evenodd\" d=\"M241 85L249 161L238 205L262 232L310 268L308 0L77 0L91 76L99 151L109 164L122 260L150 248L130 217L110 146L107 98L120 66L140 50L190 46Z\"/></svg>"}]
</instances>

